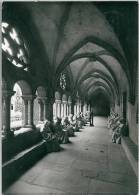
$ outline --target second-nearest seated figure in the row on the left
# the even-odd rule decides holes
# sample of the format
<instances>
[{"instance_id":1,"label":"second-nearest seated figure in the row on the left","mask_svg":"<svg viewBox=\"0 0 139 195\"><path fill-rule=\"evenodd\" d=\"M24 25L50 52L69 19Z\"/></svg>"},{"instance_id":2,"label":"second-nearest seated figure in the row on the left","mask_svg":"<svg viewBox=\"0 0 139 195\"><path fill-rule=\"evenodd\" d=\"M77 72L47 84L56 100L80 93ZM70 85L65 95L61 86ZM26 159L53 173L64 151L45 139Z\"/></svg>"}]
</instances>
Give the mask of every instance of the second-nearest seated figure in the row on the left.
<instances>
[{"instance_id":1,"label":"second-nearest seated figure in the row on the left","mask_svg":"<svg viewBox=\"0 0 139 195\"><path fill-rule=\"evenodd\" d=\"M55 132L57 133L59 143L66 144L69 143L69 137L67 131L63 130L61 124L61 118L57 117L56 122L54 123Z\"/></svg>"}]
</instances>

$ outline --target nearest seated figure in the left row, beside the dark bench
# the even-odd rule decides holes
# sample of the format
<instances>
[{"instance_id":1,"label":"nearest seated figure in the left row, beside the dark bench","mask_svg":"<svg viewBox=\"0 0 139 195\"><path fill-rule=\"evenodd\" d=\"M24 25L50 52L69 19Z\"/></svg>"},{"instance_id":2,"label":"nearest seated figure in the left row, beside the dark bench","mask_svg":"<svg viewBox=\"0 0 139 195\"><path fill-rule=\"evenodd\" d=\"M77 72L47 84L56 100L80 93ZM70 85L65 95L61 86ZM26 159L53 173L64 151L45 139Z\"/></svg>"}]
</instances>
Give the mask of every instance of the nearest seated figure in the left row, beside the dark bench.
<instances>
[{"instance_id":1,"label":"nearest seated figure in the left row, beside the dark bench","mask_svg":"<svg viewBox=\"0 0 139 195\"><path fill-rule=\"evenodd\" d=\"M53 124L49 120L44 122L40 130L43 139L46 141L47 152L57 152L60 150L58 137L54 132Z\"/></svg>"}]
</instances>

